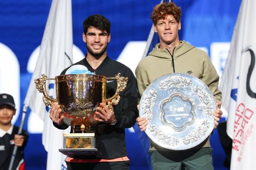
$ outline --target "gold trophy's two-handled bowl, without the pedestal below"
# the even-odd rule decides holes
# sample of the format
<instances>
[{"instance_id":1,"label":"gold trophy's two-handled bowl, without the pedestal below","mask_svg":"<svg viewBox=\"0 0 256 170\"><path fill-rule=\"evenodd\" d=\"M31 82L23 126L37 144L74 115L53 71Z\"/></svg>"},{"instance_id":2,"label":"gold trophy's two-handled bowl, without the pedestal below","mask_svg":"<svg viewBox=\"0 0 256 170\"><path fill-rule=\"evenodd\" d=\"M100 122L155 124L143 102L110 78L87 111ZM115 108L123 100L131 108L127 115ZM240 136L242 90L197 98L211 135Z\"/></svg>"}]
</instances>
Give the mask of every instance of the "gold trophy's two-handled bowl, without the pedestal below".
<instances>
[{"instance_id":1,"label":"gold trophy's two-handled bowl, without the pedestal below","mask_svg":"<svg viewBox=\"0 0 256 170\"><path fill-rule=\"evenodd\" d=\"M106 80L117 79L116 93L106 99ZM51 98L46 90L46 80L55 80L56 99ZM95 111L100 103L105 103L108 108L117 105L119 93L125 89L127 78L116 75L116 78L106 78L99 75L60 75L55 79L35 79L36 88L44 94L43 101L46 106L53 106L58 102L64 116L63 122L69 126L95 125ZM108 104L110 102L110 104Z\"/></svg>"}]
</instances>

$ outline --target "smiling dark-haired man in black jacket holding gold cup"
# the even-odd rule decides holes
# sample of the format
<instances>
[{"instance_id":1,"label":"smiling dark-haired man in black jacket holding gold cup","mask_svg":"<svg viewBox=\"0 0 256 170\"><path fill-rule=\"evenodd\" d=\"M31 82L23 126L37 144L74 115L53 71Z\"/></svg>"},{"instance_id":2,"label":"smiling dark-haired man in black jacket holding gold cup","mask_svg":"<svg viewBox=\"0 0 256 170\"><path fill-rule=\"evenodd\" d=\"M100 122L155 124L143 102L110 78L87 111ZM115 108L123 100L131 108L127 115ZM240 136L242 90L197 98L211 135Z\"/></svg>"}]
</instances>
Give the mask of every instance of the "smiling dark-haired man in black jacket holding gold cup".
<instances>
[{"instance_id":1,"label":"smiling dark-haired man in black jacket holding gold cup","mask_svg":"<svg viewBox=\"0 0 256 170\"><path fill-rule=\"evenodd\" d=\"M132 127L138 117L137 98L138 90L136 79L130 68L110 59L106 54L106 48L111 39L110 21L102 15L91 15L83 22L83 41L87 46L87 56L83 60L71 65L61 72L66 74L69 68L76 65L85 66L96 75L115 77L118 73L127 77L127 87L120 93L118 105L113 106L111 112L101 103L96 114L98 125L91 127L90 132L95 132L98 154L95 156L80 156L67 158L68 170L71 169L129 169L130 160L127 157L125 147L124 129ZM113 96L117 88L116 81L106 82L106 97ZM55 103L50 111L50 118L58 129L67 129L63 124L61 109ZM73 128L71 129L71 131ZM75 128L75 133L81 131Z\"/></svg>"}]
</instances>

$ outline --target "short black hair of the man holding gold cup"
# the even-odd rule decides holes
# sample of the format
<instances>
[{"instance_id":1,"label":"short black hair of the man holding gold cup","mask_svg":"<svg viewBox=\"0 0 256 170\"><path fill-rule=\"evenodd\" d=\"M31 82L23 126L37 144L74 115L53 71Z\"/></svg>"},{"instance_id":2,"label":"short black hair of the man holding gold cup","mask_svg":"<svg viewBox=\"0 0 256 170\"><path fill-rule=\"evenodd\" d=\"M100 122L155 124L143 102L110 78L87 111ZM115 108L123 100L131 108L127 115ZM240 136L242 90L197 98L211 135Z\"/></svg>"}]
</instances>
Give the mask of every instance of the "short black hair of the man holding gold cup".
<instances>
[{"instance_id":1,"label":"short black hair of the man holding gold cup","mask_svg":"<svg viewBox=\"0 0 256 170\"><path fill-rule=\"evenodd\" d=\"M83 33L86 34L89 27L95 27L110 34L111 23L106 17L96 14L91 15L83 21Z\"/></svg>"}]
</instances>

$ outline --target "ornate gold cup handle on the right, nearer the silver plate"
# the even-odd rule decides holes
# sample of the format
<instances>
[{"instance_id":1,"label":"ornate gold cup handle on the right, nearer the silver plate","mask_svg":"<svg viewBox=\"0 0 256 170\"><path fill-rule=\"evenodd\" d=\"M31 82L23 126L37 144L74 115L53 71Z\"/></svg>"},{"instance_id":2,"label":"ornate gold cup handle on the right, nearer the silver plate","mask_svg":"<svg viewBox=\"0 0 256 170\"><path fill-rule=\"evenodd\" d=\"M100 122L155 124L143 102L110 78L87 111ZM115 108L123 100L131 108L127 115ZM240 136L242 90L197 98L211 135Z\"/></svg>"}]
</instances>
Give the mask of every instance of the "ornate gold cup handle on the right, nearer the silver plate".
<instances>
[{"instance_id":1,"label":"ornate gold cup handle on the right, nearer the silver plate","mask_svg":"<svg viewBox=\"0 0 256 170\"><path fill-rule=\"evenodd\" d=\"M127 77L121 77L121 74L118 73L116 75L116 78L106 78L106 79L116 79L117 81L117 88L116 93L109 99L104 99L106 107L108 107L111 111L113 111L112 105L117 105L120 101L119 93L123 91L126 88L128 78ZM110 102L110 104L108 104Z\"/></svg>"}]
</instances>

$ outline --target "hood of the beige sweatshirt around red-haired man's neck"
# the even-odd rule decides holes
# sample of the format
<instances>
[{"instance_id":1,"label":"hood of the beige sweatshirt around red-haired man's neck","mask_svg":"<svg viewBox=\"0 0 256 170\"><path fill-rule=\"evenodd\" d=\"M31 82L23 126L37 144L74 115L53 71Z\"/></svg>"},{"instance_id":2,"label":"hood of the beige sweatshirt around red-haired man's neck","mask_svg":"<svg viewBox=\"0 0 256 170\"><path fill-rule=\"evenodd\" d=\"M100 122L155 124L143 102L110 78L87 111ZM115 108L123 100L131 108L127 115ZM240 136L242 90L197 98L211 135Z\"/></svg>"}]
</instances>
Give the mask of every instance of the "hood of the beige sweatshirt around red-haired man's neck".
<instances>
[{"instance_id":1,"label":"hood of the beige sweatshirt around red-haired man's neck","mask_svg":"<svg viewBox=\"0 0 256 170\"><path fill-rule=\"evenodd\" d=\"M183 54L187 53L188 51L190 51L191 49L195 48L195 46L188 44L185 41L180 41L180 45L176 46L174 49L174 60L179 58L180 56L182 56ZM172 60L172 56L170 55L170 53L172 52L168 52L168 50L165 49L160 49L160 43L158 43L155 48L153 48L152 52L150 54L148 54L149 56L154 56L154 57L158 57L158 58L164 58L167 60Z\"/></svg>"}]
</instances>

